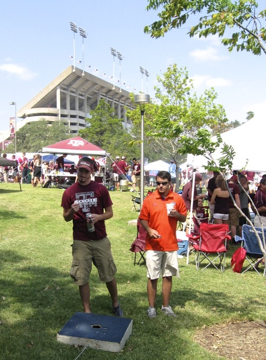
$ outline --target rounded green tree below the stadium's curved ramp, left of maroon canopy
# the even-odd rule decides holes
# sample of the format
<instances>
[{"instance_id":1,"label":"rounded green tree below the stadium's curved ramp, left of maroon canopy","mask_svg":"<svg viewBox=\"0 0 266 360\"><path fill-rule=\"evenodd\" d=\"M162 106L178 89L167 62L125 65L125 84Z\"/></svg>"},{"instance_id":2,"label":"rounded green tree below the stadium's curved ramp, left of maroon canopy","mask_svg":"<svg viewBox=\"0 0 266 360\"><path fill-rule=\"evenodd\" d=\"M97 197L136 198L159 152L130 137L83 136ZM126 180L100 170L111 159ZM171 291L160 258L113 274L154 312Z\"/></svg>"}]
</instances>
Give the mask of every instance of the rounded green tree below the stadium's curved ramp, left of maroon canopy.
<instances>
[{"instance_id":1,"label":"rounded green tree below the stadium's curved ramp, left of maroon canopy","mask_svg":"<svg viewBox=\"0 0 266 360\"><path fill-rule=\"evenodd\" d=\"M43 147L69 137L69 128L63 121L50 123L41 118L39 121L27 122L16 132L16 149L17 152L41 152ZM7 147L7 152L15 151L14 141Z\"/></svg>"}]
</instances>

